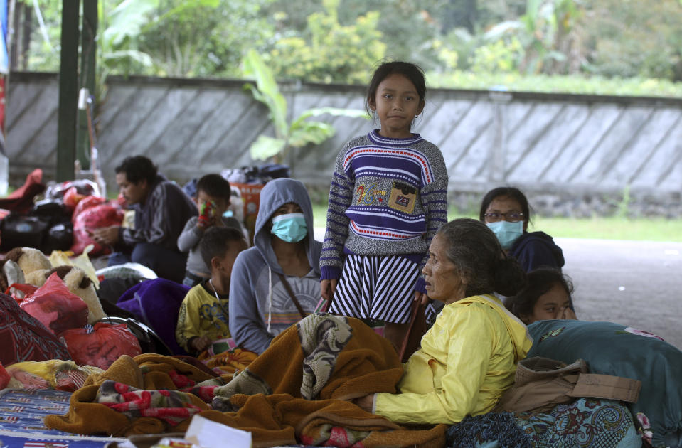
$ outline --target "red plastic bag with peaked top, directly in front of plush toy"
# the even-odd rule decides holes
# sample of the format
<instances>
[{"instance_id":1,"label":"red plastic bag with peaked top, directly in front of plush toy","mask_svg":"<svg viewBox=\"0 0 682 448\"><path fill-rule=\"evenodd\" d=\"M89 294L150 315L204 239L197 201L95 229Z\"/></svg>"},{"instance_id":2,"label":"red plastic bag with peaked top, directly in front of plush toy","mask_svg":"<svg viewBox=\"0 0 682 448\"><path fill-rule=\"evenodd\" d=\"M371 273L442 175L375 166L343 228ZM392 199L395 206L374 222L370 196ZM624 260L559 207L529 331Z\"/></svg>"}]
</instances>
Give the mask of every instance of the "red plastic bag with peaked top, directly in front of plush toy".
<instances>
[{"instance_id":1,"label":"red plastic bag with peaked top, directly in front of plush toy","mask_svg":"<svg viewBox=\"0 0 682 448\"><path fill-rule=\"evenodd\" d=\"M19 307L55 335L87 324L87 304L69 291L56 272L36 292L23 299Z\"/></svg>"}]
</instances>

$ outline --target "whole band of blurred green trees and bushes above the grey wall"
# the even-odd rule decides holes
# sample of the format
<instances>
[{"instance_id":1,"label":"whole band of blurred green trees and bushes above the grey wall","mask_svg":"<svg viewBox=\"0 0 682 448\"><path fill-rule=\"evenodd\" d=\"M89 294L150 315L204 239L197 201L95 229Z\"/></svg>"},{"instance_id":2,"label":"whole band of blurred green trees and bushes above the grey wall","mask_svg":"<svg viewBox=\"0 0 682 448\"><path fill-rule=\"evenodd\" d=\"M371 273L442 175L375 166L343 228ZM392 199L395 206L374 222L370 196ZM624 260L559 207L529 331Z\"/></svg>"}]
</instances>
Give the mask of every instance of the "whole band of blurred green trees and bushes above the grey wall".
<instances>
[{"instance_id":1,"label":"whole band of blurred green trees and bushes above the grey wall","mask_svg":"<svg viewBox=\"0 0 682 448\"><path fill-rule=\"evenodd\" d=\"M100 84L240 77L255 49L277 78L365 85L391 58L442 87L681 96L682 0L98 1ZM38 5L28 68L57 71L61 1Z\"/></svg>"}]
</instances>

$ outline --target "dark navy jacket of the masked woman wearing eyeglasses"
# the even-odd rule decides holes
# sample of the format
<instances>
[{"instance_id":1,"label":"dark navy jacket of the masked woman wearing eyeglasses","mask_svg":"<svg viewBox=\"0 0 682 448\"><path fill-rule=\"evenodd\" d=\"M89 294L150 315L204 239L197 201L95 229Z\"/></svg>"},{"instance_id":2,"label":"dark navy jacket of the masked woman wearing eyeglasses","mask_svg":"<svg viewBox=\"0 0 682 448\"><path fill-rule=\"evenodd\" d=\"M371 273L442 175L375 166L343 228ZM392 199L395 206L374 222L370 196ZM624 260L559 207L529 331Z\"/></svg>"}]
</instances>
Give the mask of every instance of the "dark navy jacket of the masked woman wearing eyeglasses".
<instances>
[{"instance_id":1,"label":"dark navy jacket of the masked woman wearing eyeglasses","mask_svg":"<svg viewBox=\"0 0 682 448\"><path fill-rule=\"evenodd\" d=\"M540 266L561 270L564 265L561 247L544 232L524 233L513 243L509 255L516 258L526 272Z\"/></svg>"}]
</instances>

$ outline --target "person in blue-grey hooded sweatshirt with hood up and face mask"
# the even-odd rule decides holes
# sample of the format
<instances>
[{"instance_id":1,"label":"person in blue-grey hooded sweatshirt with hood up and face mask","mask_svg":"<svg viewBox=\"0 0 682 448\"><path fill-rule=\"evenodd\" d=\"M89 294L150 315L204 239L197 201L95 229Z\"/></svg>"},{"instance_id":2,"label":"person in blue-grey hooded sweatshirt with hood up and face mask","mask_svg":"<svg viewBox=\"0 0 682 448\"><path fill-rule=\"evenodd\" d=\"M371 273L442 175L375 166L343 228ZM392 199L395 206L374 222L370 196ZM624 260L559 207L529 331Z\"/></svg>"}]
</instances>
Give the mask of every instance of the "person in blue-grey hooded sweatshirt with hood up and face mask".
<instances>
[{"instance_id":1,"label":"person in blue-grey hooded sweatshirt with hood up and face mask","mask_svg":"<svg viewBox=\"0 0 682 448\"><path fill-rule=\"evenodd\" d=\"M253 247L240 252L230 280L230 334L238 346L260 354L272 338L315 310L321 249L303 183L268 182L260 191Z\"/></svg>"}]
</instances>

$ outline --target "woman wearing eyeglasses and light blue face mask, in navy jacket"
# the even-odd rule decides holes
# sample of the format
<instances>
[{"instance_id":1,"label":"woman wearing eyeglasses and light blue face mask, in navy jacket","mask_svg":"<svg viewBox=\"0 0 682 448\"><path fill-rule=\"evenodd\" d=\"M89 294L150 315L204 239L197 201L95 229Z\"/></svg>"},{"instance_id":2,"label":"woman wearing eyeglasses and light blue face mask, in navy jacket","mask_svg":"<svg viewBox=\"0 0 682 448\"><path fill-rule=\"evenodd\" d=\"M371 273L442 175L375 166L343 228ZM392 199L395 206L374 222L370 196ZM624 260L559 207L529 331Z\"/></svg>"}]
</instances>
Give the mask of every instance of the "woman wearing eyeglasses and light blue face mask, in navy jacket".
<instances>
[{"instance_id":1,"label":"woman wearing eyeglasses and light blue face mask, in navy jacket","mask_svg":"<svg viewBox=\"0 0 682 448\"><path fill-rule=\"evenodd\" d=\"M564 265L561 247L544 232L528 232L531 210L518 188L494 188L481 202L480 220L495 233L507 255L516 258L526 272L536 267Z\"/></svg>"}]
</instances>

